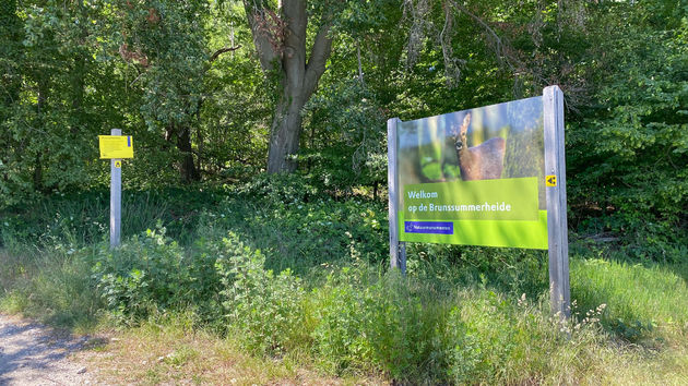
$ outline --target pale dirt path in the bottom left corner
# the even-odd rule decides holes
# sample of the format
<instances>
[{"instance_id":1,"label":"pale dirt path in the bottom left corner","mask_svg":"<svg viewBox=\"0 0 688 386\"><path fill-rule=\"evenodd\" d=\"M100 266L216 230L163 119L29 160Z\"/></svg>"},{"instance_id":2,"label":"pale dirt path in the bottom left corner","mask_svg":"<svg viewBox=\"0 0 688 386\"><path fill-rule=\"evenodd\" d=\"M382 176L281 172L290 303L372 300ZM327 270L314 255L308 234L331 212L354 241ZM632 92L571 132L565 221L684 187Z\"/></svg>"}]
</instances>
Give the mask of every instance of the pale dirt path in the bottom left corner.
<instances>
[{"instance_id":1,"label":"pale dirt path in the bottom left corner","mask_svg":"<svg viewBox=\"0 0 688 386\"><path fill-rule=\"evenodd\" d=\"M0 385L94 384L86 365L72 355L90 341L0 314Z\"/></svg>"}]
</instances>

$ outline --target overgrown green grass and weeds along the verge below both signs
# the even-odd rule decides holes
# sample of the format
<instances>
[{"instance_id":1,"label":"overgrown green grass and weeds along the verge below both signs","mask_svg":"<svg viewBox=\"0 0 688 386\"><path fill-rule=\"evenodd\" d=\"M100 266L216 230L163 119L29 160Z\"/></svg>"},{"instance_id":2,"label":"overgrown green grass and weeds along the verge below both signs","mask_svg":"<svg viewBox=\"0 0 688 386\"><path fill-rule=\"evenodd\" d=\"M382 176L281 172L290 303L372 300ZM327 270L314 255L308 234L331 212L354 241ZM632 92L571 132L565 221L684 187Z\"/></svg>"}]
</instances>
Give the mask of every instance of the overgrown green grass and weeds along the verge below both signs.
<instances>
[{"instance_id":1,"label":"overgrown green grass and weeds along the verge below both signs","mask_svg":"<svg viewBox=\"0 0 688 386\"><path fill-rule=\"evenodd\" d=\"M121 379L146 383L687 381L686 263L579 248L573 317L559 324L542 252L415 244L401 277L387 269L378 203L288 189L257 196L263 188L179 213L174 195L141 194L142 216L127 227L153 230L116 253L97 232L82 238L80 221L99 210L88 203L16 215L0 250L0 310L76 330L123 328L123 342L105 350L128 363ZM175 228L170 214L190 220Z\"/></svg>"}]
</instances>

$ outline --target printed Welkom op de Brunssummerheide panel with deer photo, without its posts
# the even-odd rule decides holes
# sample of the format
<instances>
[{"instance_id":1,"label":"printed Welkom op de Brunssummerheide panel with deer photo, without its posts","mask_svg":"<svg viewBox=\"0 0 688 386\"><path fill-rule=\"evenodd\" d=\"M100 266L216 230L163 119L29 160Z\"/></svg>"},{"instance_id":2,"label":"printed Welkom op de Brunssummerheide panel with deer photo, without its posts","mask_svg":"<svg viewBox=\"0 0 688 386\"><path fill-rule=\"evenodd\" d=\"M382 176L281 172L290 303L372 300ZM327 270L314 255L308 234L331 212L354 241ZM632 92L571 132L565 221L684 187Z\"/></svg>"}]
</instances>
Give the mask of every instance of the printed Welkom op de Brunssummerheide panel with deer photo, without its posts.
<instances>
[{"instance_id":1,"label":"printed Welkom op de Brunssummerheide panel with deer photo, without its posts","mask_svg":"<svg viewBox=\"0 0 688 386\"><path fill-rule=\"evenodd\" d=\"M399 122L399 240L547 249L543 97Z\"/></svg>"}]
</instances>

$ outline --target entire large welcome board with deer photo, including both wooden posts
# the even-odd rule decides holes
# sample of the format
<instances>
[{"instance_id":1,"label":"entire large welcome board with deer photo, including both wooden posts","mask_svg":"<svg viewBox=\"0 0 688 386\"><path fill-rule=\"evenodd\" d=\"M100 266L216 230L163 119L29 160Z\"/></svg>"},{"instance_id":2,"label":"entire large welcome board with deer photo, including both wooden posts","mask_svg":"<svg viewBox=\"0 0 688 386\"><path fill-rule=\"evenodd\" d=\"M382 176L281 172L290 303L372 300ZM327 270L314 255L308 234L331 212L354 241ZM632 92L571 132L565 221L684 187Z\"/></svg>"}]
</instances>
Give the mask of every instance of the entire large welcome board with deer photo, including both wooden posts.
<instances>
[{"instance_id":1,"label":"entire large welcome board with deer photo, including both wooden posts","mask_svg":"<svg viewBox=\"0 0 688 386\"><path fill-rule=\"evenodd\" d=\"M405 242L547 250L551 312L569 317L561 89L387 130L391 267Z\"/></svg>"}]
</instances>

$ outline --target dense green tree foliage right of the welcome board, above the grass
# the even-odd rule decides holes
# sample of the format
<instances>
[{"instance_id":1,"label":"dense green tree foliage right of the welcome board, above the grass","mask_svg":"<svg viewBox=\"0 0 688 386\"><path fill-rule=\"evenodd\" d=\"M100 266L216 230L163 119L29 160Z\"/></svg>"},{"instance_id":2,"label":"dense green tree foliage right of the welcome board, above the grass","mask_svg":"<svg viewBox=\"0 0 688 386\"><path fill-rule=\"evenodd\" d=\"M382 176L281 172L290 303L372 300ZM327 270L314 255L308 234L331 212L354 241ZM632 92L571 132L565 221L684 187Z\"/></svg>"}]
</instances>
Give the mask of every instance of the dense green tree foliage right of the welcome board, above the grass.
<instances>
[{"instance_id":1,"label":"dense green tree foliage right of the welcome board, above the grass","mask_svg":"<svg viewBox=\"0 0 688 386\"><path fill-rule=\"evenodd\" d=\"M581 229L619 234L631 257L679 261L688 208L688 25L685 16L675 29L664 25L676 23L673 16L648 24L663 17L648 12L655 7L618 5L600 24L613 38L600 47L607 53L597 64L597 105L571 125L567 152Z\"/></svg>"}]
</instances>

